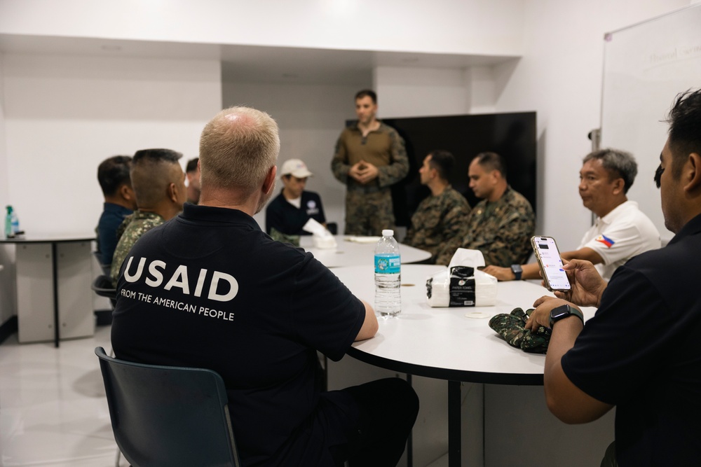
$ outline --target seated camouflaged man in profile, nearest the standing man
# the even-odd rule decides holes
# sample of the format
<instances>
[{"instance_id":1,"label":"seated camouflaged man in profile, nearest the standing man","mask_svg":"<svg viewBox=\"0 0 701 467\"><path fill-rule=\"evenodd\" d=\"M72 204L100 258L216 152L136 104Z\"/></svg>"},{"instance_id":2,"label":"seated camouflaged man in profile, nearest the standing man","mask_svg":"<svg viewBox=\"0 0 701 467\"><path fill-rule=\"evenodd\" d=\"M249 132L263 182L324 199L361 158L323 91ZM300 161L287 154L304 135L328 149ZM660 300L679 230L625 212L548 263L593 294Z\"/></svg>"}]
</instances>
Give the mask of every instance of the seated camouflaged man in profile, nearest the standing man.
<instances>
[{"instance_id":1,"label":"seated camouflaged man in profile, nearest the standing man","mask_svg":"<svg viewBox=\"0 0 701 467\"><path fill-rule=\"evenodd\" d=\"M411 228L404 243L430 251L427 263L435 263L440 246L463 232L470 214L470 204L448 182L454 157L448 151L433 151L423 159L418 170L421 184L428 186L431 195L421 201L411 216Z\"/></svg>"}]
</instances>

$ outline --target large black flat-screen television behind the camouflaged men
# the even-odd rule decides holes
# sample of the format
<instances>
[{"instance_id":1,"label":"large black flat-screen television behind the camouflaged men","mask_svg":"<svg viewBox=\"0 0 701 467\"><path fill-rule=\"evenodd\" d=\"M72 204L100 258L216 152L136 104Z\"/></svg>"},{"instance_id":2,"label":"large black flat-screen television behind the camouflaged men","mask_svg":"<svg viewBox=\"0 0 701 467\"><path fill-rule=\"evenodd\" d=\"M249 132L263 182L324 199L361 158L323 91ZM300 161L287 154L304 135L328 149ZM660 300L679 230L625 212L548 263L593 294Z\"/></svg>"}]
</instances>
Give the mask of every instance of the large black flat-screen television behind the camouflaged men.
<instances>
[{"instance_id":1,"label":"large black flat-screen television behind the camouflaged men","mask_svg":"<svg viewBox=\"0 0 701 467\"><path fill-rule=\"evenodd\" d=\"M392 190L397 225L409 226L418 203L429 195L428 188L419 181L418 169L423 158L435 149L455 156L450 183L470 206L479 201L469 186L470 162L479 153L493 151L505 159L509 184L536 210L536 112L382 120L404 138L409 155L409 175Z\"/></svg>"}]
</instances>

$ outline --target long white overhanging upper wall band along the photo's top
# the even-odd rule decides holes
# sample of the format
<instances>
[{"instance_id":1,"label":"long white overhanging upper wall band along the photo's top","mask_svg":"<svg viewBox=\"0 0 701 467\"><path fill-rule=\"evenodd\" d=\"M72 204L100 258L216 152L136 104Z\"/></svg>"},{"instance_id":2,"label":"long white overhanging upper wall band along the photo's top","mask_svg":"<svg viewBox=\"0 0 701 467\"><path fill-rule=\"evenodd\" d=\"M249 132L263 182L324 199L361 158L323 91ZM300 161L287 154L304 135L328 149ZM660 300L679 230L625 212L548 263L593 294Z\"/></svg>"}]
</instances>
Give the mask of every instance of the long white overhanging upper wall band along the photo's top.
<instances>
[{"instance_id":1,"label":"long white overhanging upper wall band along the photo's top","mask_svg":"<svg viewBox=\"0 0 701 467\"><path fill-rule=\"evenodd\" d=\"M0 0L0 32L513 55L523 0Z\"/></svg>"}]
</instances>

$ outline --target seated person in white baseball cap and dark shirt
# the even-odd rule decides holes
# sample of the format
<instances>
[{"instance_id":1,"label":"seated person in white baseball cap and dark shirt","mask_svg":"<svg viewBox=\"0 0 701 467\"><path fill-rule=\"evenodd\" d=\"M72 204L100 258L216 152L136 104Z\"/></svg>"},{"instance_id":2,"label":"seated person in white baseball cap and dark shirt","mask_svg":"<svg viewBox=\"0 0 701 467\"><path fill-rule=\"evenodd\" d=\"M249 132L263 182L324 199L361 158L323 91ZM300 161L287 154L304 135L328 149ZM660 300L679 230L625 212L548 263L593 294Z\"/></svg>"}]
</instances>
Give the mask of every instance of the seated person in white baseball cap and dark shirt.
<instances>
[{"instance_id":1,"label":"seated person in white baseball cap and dark shirt","mask_svg":"<svg viewBox=\"0 0 701 467\"><path fill-rule=\"evenodd\" d=\"M280 168L283 190L265 210L265 226L268 235L311 235L302 230L309 219L326 223L321 198L313 191L306 191L306 181L313 176L306 164L299 159L286 160Z\"/></svg>"}]
</instances>

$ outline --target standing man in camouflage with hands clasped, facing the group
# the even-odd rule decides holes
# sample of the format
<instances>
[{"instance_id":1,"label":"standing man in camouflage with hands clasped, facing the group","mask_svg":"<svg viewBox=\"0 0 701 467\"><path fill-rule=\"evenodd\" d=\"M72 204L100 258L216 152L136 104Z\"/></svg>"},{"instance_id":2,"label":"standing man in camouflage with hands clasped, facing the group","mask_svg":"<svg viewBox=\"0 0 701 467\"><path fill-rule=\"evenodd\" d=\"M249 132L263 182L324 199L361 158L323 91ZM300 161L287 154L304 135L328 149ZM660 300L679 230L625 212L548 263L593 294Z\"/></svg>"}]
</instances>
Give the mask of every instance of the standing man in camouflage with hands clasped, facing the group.
<instances>
[{"instance_id":1,"label":"standing man in camouflage with hands clasped, facing the group","mask_svg":"<svg viewBox=\"0 0 701 467\"><path fill-rule=\"evenodd\" d=\"M381 235L394 228L390 186L409 172L404 140L377 120L372 90L355 95L358 122L341 132L331 169L346 190L346 235Z\"/></svg>"}]
</instances>

